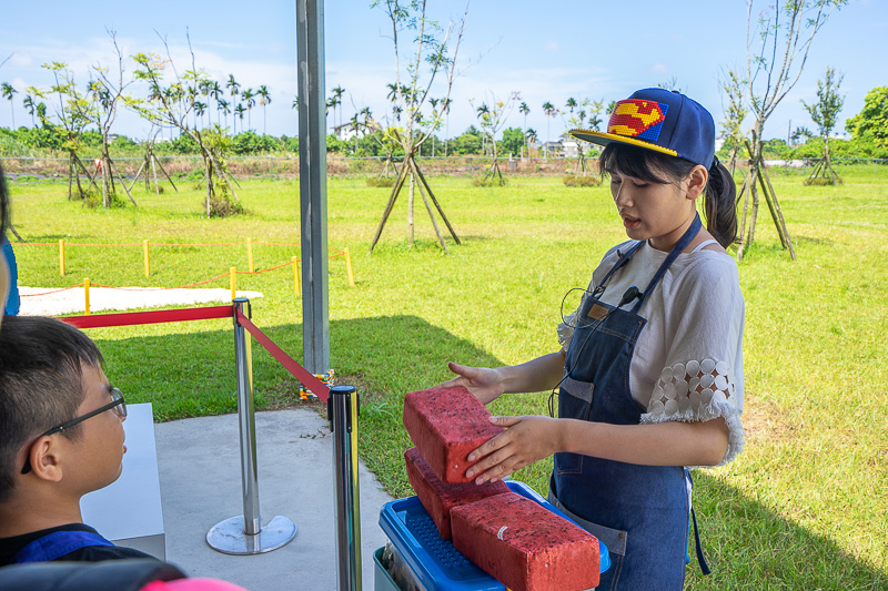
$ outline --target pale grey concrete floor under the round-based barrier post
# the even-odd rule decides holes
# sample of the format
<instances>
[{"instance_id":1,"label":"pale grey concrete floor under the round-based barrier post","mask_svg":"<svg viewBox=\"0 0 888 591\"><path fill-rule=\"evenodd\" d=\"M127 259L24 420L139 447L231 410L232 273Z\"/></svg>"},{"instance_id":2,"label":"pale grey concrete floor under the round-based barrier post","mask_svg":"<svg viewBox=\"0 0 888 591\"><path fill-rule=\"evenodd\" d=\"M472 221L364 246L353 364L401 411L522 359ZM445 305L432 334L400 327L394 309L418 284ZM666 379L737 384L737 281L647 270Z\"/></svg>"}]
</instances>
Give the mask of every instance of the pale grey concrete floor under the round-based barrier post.
<instances>
[{"instance_id":1,"label":"pale grey concrete floor under the round-based barrier post","mask_svg":"<svg viewBox=\"0 0 888 591\"><path fill-rule=\"evenodd\" d=\"M253 556L216 552L206 532L243 514L236 415L157 424L167 560L191 577L213 577L250 591L335 590L333 437L310 408L256 412L262 523L296 524L285 547ZM359 432L360 437L360 432ZM359 468L363 589L373 589L373 552L386 541L379 518L392 500L363 462Z\"/></svg>"}]
</instances>

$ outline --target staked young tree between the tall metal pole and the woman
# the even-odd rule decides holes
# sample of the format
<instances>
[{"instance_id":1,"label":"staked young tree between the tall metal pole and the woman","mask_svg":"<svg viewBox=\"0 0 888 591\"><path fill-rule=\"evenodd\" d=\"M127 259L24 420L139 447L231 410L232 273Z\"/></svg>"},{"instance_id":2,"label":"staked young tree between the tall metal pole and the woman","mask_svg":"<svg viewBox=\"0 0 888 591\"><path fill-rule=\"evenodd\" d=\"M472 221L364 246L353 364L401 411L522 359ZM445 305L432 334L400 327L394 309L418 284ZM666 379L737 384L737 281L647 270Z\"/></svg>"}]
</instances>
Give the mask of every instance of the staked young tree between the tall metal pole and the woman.
<instances>
[{"instance_id":1,"label":"staked young tree between the tall metal pole and the woman","mask_svg":"<svg viewBox=\"0 0 888 591\"><path fill-rule=\"evenodd\" d=\"M403 118L403 129L391 129L389 133L400 145L404 152L404 162L401 165L397 180L392 187L392 194L389 197L389 203L383 212L380 225L376 228L376 234L370 245L370 252L376 246L380 241L382 231L385 223L392 213L395 201L397 200L404 184L408 182L408 203L407 203L407 240L413 245L413 204L415 191L418 187L420 196L423 198L425 208L428 212L428 217L432 220L432 225L435 228L435 234L441 243L444 252L447 252L447 245L444 237L441 235L435 216L432 213L432 205L430 200L435 205L441 218L447 226L447 230L453 236L456 244L460 244L460 238L453 230L444 210L441 207L437 198L432 192L428 182L423 175L420 166L416 163L416 153L420 146L432 135L435 129L441 123L443 114L446 112L450 104L451 89L453 88L453 79L455 77L456 55L460 50L460 41L462 40L465 30L466 12L457 23L458 29L451 23L446 28L442 28L437 22L426 17L426 2L412 0L375 0L371 7L380 7L392 21L392 44L395 52L395 82L390 84L392 89L393 112L398 113ZM451 39L451 33L457 30L455 39ZM401 33L413 35L411 39L412 58L406 61L405 74L402 79L402 63L398 40ZM450 48L453 45L451 57ZM437 74L443 73L446 78L446 92L444 98L436 102L434 106L431 105L431 91ZM402 80L405 82L402 84Z\"/></svg>"}]
</instances>

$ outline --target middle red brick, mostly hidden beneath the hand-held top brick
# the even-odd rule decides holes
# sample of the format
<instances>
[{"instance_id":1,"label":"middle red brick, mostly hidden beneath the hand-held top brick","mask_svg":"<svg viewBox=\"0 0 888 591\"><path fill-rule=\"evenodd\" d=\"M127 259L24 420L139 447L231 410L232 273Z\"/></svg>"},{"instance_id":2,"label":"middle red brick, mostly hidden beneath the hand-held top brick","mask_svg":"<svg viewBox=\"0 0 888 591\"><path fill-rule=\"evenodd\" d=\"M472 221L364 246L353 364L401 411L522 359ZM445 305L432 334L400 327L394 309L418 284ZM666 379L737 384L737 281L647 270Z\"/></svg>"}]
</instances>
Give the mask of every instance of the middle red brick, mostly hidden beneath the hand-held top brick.
<instances>
[{"instance_id":1,"label":"middle red brick, mostly hidden beneath the hand-held top brick","mask_svg":"<svg viewBox=\"0 0 888 591\"><path fill-rule=\"evenodd\" d=\"M508 485L502 480L483 485L442 482L415 447L404 452L404 460L407 465L410 485L420 497L420 502L423 503L432 521L435 522L438 533L445 540L451 539L451 509L494 495L509 492Z\"/></svg>"}]
</instances>

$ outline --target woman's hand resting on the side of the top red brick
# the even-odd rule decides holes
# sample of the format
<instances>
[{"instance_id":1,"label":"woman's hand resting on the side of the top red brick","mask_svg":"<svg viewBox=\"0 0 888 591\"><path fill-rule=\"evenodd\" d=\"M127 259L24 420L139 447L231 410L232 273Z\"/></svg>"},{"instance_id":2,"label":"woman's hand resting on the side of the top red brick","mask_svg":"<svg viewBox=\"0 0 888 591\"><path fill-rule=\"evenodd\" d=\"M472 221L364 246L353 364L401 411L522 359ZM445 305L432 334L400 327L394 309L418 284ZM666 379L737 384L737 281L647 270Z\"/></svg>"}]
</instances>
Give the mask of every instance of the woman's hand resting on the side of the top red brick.
<instances>
[{"instance_id":1,"label":"woman's hand resting on the side of the top red brick","mask_svg":"<svg viewBox=\"0 0 888 591\"><path fill-rule=\"evenodd\" d=\"M468 455L468 461L481 460L466 471L476 485L495 482L515 470L561 451L562 421L536 415L491 417L491 422L506 427Z\"/></svg>"}]
</instances>

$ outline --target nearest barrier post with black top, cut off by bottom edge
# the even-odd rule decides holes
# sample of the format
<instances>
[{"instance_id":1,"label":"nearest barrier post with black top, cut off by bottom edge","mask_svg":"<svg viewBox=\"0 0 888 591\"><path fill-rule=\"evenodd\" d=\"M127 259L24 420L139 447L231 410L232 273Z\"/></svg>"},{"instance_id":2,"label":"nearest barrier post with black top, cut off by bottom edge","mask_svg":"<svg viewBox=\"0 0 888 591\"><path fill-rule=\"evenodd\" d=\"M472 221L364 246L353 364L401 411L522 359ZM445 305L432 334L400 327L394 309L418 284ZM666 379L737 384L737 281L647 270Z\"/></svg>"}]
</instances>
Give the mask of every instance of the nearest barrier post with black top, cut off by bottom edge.
<instances>
[{"instance_id":1,"label":"nearest barrier post with black top, cut off by bottom edge","mask_svg":"<svg viewBox=\"0 0 888 591\"><path fill-rule=\"evenodd\" d=\"M357 483L357 393L333 386L327 417L336 479L336 580L340 591L361 591L361 503Z\"/></svg>"}]
</instances>

